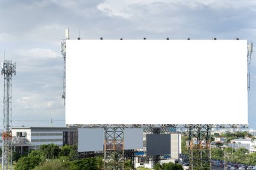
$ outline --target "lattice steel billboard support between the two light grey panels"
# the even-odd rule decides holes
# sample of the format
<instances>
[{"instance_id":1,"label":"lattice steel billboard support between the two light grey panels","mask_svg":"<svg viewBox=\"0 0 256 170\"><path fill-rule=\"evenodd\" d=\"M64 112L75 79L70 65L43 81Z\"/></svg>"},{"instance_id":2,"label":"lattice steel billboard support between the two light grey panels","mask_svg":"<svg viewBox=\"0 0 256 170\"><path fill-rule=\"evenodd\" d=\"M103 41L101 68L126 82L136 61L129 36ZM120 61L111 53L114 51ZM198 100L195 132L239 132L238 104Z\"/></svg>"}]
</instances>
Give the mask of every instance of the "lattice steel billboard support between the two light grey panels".
<instances>
[{"instance_id":1,"label":"lattice steel billboard support between the two light grey panels","mask_svg":"<svg viewBox=\"0 0 256 170\"><path fill-rule=\"evenodd\" d=\"M124 169L124 128L109 126L104 128L104 169Z\"/></svg>"}]
</instances>

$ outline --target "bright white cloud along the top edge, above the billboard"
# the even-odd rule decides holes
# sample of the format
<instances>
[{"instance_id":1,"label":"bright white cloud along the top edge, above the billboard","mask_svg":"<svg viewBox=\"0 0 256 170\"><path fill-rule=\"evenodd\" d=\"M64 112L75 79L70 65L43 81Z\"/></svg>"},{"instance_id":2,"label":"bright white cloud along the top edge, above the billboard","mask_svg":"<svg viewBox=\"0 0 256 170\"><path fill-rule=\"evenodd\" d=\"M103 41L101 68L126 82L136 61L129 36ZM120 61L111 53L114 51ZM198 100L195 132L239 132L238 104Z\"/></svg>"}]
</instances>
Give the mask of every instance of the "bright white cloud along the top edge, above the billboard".
<instances>
[{"instance_id":1,"label":"bright white cloud along the top edge, above the billboard","mask_svg":"<svg viewBox=\"0 0 256 170\"><path fill-rule=\"evenodd\" d=\"M249 0L243 1L243 3L241 3L239 0L106 0L103 3L100 3L97 7L105 15L130 18L141 17L141 15L146 15L147 13L165 13L166 9L170 11L174 10L174 12L179 15L179 13L183 14L186 12L183 9L200 10L204 9L205 7L214 10L243 9L253 7L255 4L255 1L253 2ZM148 11L146 11L146 13L139 13L140 15L137 15L135 11L143 11L143 7L145 6L148 7ZM150 17L148 19L150 19Z\"/></svg>"}]
</instances>

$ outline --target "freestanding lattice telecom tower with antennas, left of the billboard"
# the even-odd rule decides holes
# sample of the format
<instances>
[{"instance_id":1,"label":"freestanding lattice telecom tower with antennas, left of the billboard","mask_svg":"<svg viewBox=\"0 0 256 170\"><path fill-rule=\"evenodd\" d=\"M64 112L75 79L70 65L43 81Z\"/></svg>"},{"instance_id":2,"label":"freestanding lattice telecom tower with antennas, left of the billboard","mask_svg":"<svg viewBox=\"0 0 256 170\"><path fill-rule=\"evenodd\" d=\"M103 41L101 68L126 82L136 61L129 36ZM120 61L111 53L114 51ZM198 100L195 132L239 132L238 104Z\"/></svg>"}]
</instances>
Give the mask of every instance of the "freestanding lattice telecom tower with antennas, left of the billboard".
<instances>
[{"instance_id":1,"label":"freestanding lattice telecom tower with antennas, left of the billboard","mask_svg":"<svg viewBox=\"0 0 256 170\"><path fill-rule=\"evenodd\" d=\"M3 85L3 147L2 147L2 169L9 169L11 161L11 125L12 125L12 76L16 75L16 63L11 60L1 62L1 74L4 76ZM12 167L10 166L12 169Z\"/></svg>"}]
</instances>

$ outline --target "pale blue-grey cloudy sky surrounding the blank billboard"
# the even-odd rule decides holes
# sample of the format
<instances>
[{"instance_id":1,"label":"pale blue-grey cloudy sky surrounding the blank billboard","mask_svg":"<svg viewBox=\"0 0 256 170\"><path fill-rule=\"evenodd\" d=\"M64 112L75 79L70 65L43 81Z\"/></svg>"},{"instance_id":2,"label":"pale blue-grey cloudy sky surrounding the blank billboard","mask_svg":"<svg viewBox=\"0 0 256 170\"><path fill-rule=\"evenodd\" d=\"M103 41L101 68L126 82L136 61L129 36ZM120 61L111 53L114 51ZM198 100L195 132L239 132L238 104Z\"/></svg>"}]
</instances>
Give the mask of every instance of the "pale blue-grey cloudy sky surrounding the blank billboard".
<instances>
[{"instance_id":1,"label":"pale blue-grey cloudy sky surrounding the blank billboard","mask_svg":"<svg viewBox=\"0 0 256 170\"><path fill-rule=\"evenodd\" d=\"M71 39L80 30L82 39L216 37L256 44L255 15L256 1L251 0L2 0L0 60L5 51L6 60L17 62L13 126L51 126L51 119L53 126L65 126L61 99L65 28ZM249 65L249 126L256 129L255 54ZM3 88L0 92L1 99Z\"/></svg>"}]
</instances>

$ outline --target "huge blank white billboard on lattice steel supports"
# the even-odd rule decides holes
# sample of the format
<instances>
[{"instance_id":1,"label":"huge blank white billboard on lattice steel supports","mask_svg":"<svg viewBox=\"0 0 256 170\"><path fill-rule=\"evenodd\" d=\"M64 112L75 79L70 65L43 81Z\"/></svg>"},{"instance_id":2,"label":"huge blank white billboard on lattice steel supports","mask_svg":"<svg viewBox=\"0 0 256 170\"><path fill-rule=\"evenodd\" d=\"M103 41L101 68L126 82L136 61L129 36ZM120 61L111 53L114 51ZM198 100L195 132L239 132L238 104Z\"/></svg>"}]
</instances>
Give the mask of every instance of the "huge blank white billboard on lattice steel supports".
<instances>
[{"instance_id":1,"label":"huge blank white billboard on lattice steel supports","mask_svg":"<svg viewBox=\"0 0 256 170\"><path fill-rule=\"evenodd\" d=\"M66 124L247 124L247 40L67 40Z\"/></svg>"}]
</instances>

